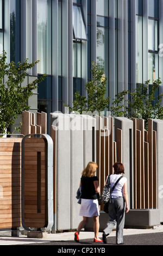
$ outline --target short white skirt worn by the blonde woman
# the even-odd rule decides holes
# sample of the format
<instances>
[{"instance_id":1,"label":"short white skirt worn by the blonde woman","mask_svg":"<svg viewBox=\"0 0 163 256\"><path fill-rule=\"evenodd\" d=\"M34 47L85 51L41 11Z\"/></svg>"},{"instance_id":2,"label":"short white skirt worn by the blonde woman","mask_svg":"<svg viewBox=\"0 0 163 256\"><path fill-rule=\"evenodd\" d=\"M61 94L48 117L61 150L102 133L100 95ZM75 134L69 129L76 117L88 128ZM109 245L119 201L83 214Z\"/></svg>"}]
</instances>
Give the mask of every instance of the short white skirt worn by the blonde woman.
<instances>
[{"instance_id":1,"label":"short white skirt worn by the blonde woman","mask_svg":"<svg viewBox=\"0 0 163 256\"><path fill-rule=\"evenodd\" d=\"M83 199L80 205L79 216L99 216L99 205L97 199Z\"/></svg>"}]
</instances>

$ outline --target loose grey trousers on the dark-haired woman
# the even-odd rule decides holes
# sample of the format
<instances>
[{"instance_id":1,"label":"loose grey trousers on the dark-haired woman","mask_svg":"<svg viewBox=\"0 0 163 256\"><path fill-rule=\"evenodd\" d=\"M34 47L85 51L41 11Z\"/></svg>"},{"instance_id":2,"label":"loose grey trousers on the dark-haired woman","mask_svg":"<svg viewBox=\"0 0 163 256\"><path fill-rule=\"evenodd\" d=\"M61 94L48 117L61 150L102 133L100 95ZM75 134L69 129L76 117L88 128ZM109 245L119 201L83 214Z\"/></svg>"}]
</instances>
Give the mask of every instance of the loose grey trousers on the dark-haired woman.
<instances>
[{"instance_id":1,"label":"loose grey trousers on the dark-haired woman","mask_svg":"<svg viewBox=\"0 0 163 256\"><path fill-rule=\"evenodd\" d=\"M123 197L111 198L109 203L109 221L106 228L103 230L106 235L109 235L116 225L116 243L123 243L123 228L125 217L125 202Z\"/></svg>"}]
</instances>

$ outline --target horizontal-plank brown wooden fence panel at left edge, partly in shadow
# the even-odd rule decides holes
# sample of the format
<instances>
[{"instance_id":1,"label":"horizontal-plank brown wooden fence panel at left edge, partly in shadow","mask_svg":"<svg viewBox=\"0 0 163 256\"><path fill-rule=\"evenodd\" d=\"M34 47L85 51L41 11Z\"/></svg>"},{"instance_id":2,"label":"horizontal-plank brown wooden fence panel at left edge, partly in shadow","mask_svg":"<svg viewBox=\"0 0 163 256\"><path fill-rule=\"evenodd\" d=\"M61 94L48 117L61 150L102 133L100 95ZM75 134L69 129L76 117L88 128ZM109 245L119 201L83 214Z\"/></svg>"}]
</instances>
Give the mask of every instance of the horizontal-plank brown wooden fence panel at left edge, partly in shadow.
<instances>
[{"instance_id":1,"label":"horizontal-plank brown wooden fence panel at left edge, partly in shadow","mask_svg":"<svg viewBox=\"0 0 163 256\"><path fill-rule=\"evenodd\" d=\"M21 141L0 138L0 228L21 226Z\"/></svg>"}]
</instances>

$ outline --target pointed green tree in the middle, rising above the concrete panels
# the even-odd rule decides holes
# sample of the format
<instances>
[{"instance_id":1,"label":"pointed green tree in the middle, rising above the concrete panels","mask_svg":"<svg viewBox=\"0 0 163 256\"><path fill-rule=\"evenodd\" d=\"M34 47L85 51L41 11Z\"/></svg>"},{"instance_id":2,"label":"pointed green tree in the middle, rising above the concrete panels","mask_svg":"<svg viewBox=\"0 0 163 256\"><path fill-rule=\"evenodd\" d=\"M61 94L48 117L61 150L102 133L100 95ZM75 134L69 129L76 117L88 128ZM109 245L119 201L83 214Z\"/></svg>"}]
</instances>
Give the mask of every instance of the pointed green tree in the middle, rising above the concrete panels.
<instances>
[{"instance_id":1,"label":"pointed green tree in the middle, rising above the concrete panels","mask_svg":"<svg viewBox=\"0 0 163 256\"><path fill-rule=\"evenodd\" d=\"M74 95L73 107L70 108L70 112L97 112L104 111L105 108L109 108L110 98L105 97L106 94L106 77L104 76L104 70L99 69L95 62L92 62L92 79L85 84L87 97L82 96L79 92Z\"/></svg>"}]
</instances>

